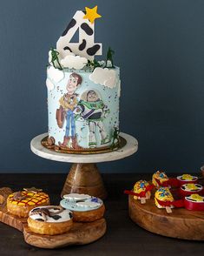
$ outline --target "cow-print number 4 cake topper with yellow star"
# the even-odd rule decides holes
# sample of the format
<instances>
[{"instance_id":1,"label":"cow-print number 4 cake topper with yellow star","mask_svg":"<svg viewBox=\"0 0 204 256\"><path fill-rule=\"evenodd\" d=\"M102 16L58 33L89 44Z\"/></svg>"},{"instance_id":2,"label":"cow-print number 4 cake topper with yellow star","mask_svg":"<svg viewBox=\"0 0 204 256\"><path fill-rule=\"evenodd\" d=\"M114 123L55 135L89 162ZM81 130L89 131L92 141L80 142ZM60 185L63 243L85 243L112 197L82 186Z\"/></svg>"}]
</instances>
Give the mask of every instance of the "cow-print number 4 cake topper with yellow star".
<instances>
[{"instance_id":1,"label":"cow-print number 4 cake topper with yellow star","mask_svg":"<svg viewBox=\"0 0 204 256\"><path fill-rule=\"evenodd\" d=\"M61 58L70 55L70 52L89 60L94 60L95 55L102 55L102 44L95 43L94 21L98 17L101 17L101 15L97 13L97 6L93 9L86 7L86 11L76 11L75 16L56 43L56 51L60 53ZM77 30L79 32L79 42L70 43Z\"/></svg>"}]
</instances>

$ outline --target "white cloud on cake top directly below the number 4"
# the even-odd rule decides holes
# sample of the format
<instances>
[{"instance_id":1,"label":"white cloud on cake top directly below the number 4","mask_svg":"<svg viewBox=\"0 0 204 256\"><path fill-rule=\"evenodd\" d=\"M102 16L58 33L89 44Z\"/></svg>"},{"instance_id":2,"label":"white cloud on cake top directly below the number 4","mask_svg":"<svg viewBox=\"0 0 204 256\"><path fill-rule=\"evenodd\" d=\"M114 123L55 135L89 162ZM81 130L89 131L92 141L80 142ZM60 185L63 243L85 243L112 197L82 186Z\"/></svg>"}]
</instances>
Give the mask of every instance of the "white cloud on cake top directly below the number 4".
<instances>
[{"instance_id":1,"label":"white cloud on cake top directly below the number 4","mask_svg":"<svg viewBox=\"0 0 204 256\"><path fill-rule=\"evenodd\" d=\"M86 57L80 57L75 55L68 55L61 60L61 64L64 68L82 70L82 68L88 63Z\"/></svg>"}]
</instances>

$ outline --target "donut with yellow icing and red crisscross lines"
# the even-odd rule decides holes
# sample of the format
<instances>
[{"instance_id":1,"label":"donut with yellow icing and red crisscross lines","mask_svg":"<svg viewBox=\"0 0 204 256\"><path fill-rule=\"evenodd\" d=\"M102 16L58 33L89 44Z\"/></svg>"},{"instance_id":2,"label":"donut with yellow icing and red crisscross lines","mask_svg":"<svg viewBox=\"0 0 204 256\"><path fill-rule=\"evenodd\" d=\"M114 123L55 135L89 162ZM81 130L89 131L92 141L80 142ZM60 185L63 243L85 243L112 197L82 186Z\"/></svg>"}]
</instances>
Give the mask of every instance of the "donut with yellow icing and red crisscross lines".
<instances>
[{"instance_id":1,"label":"donut with yellow icing and red crisscross lines","mask_svg":"<svg viewBox=\"0 0 204 256\"><path fill-rule=\"evenodd\" d=\"M38 205L49 205L49 195L42 190L24 189L14 192L7 199L7 210L20 218L28 218L29 212Z\"/></svg>"}]
</instances>

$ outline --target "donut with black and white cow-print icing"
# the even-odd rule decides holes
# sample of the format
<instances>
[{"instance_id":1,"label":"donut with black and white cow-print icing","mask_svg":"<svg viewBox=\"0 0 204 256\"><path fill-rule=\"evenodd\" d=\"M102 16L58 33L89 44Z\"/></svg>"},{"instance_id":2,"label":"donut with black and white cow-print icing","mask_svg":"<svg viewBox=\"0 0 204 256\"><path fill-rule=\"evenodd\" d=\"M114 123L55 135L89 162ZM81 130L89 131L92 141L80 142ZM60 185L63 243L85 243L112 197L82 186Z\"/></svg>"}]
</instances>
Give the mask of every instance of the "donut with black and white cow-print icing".
<instances>
[{"instance_id":1,"label":"donut with black and white cow-print icing","mask_svg":"<svg viewBox=\"0 0 204 256\"><path fill-rule=\"evenodd\" d=\"M72 213L62 206L40 206L30 211L28 226L32 232L56 235L69 232L73 226L72 219Z\"/></svg>"}]
</instances>

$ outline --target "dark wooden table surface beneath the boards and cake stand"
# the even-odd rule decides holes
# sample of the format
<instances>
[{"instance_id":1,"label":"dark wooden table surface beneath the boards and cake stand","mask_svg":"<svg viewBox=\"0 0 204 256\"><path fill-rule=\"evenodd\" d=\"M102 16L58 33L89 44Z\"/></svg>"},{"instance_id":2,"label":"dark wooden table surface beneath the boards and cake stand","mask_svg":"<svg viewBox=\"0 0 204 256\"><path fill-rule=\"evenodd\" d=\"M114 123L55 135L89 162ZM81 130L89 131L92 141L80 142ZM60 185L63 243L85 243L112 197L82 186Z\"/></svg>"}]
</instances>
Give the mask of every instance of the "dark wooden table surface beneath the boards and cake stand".
<instances>
[{"instance_id":1,"label":"dark wooden table surface beneath the boards and cake stand","mask_svg":"<svg viewBox=\"0 0 204 256\"><path fill-rule=\"evenodd\" d=\"M151 175L103 174L102 178L109 193L104 202L108 229L102 239L86 246L45 250L26 244L23 233L0 223L0 255L203 255L203 242L162 237L128 218L128 196L123 190ZM58 204L65 179L65 174L0 174L0 187L18 191L34 185L49 193L52 204Z\"/></svg>"}]
</instances>

